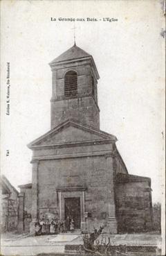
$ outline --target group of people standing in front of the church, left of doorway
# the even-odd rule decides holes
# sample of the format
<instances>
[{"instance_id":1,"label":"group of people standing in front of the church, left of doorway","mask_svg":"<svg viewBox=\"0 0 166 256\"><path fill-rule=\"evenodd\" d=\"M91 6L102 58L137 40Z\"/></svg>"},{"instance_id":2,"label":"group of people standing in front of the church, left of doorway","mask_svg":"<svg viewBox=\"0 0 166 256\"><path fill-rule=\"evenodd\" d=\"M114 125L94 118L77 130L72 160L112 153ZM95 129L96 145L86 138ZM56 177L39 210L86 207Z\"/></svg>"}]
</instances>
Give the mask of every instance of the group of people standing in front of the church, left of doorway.
<instances>
[{"instance_id":1,"label":"group of people standing in front of the church, left of doorway","mask_svg":"<svg viewBox=\"0 0 166 256\"><path fill-rule=\"evenodd\" d=\"M74 221L67 217L64 221L59 219L39 219L35 223L35 234L59 234L74 231Z\"/></svg>"}]
</instances>

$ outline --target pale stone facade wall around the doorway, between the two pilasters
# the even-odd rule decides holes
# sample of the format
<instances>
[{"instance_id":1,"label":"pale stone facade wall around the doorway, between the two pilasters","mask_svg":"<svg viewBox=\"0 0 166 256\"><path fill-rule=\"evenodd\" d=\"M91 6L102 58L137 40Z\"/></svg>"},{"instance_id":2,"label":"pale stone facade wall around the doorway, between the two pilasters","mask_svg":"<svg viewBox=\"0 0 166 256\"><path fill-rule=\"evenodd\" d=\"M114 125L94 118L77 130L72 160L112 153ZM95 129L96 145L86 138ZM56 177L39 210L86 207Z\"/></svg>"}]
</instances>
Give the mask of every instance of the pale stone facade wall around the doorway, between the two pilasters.
<instances>
[{"instance_id":1,"label":"pale stone facade wall around the doorway, between the two pilasters","mask_svg":"<svg viewBox=\"0 0 166 256\"><path fill-rule=\"evenodd\" d=\"M39 162L39 208L57 205L57 187L87 187L85 207L100 215L98 203L104 203L106 180L104 157L80 157ZM102 190L102 191L101 191ZM93 204L91 203L93 201ZM97 205L97 206L96 206ZM103 210L105 205L102 205Z\"/></svg>"}]
</instances>

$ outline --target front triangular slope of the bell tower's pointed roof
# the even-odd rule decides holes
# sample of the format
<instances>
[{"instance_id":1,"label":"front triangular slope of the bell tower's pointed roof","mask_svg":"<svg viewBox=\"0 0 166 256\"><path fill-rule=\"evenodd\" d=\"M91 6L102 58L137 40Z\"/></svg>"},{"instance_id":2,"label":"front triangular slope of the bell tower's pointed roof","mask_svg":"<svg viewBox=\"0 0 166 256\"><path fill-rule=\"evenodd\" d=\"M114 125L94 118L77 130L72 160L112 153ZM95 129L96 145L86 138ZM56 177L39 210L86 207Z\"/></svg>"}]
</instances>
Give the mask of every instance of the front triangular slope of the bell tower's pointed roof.
<instances>
[{"instance_id":1,"label":"front triangular slope of the bell tower's pointed roof","mask_svg":"<svg viewBox=\"0 0 166 256\"><path fill-rule=\"evenodd\" d=\"M85 57L91 57L91 55L89 53L86 53L86 51L82 50L76 44L74 44L70 49L68 49L67 51L59 55L57 58L55 58L53 61L51 61L50 64L53 64L55 62L61 62L64 60L73 60Z\"/></svg>"}]
</instances>

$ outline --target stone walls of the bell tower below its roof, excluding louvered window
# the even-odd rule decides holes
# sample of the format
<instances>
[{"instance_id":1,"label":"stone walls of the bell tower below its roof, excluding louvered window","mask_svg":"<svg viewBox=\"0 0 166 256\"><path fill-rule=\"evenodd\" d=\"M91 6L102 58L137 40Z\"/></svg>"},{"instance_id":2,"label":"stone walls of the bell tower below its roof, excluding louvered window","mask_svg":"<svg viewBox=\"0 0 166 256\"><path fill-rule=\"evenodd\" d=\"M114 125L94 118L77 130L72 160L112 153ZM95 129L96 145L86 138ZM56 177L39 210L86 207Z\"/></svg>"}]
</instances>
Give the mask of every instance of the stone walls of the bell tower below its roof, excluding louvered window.
<instances>
[{"instance_id":1,"label":"stone walls of the bell tower below its roof, excluding louvered window","mask_svg":"<svg viewBox=\"0 0 166 256\"><path fill-rule=\"evenodd\" d=\"M77 96L64 96L64 76L67 71L77 73ZM92 94L92 76L95 95ZM100 128L97 79L93 74L91 60L75 61L57 66L53 70L53 94L51 102L51 128L67 119Z\"/></svg>"}]
</instances>

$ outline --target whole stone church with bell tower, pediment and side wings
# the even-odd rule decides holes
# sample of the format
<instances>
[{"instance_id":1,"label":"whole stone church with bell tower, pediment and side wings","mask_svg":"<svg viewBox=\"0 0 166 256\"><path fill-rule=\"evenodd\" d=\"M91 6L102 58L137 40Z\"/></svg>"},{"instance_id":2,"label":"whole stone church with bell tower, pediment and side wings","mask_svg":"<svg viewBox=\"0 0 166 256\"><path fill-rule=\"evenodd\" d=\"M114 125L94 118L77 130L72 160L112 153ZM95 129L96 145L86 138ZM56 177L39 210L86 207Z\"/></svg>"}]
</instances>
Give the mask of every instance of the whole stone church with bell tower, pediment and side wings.
<instances>
[{"instance_id":1,"label":"whole stone church with bell tower, pediment and side wings","mask_svg":"<svg viewBox=\"0 0 166 256\"><path fill-rule=\"evenodd\" d=\"M151 226L151 180L127 171L116 137L100 130L98 69L74 45L49 63L50 130L28 144L32 184L19 186L19 230L46 217L70 216L75 229L130 232ZM33 228L32 228L33 229Z\"/></svg>"}]
</instances>

